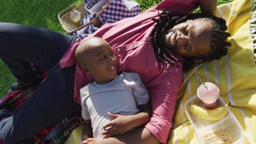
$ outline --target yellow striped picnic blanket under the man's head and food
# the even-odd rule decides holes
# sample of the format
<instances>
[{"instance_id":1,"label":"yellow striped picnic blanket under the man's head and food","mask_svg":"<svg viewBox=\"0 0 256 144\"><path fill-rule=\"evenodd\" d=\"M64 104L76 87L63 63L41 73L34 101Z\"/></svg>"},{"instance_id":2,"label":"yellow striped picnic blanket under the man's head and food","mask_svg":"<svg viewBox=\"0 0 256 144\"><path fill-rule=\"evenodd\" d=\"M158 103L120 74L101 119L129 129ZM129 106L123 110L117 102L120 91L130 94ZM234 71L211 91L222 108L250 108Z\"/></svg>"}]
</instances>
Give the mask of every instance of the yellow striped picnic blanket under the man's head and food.
<instances>
[{"instance_id":1,"label":"yellow striped picnic blanket under the man's head and food","mask_svg":"<svg viewBox=\"0 0 256 144\"><path fill-rule=\"evenodd\" d=\"M256 67L253 53L255 33L253 1L235 0L232 3L219 5L217 16L227 21L231 33L228 56L211 63L196 65L183 76L183 87L177 100L177 113L170 131L168 143L199 143L189 119L184 111L184 104L196 94L201 85L200 78L206 82L216 83L220 97L230 101L238 121L245 130L243 143L256 143ZM256 13L256 12L254 12ZM252 29L251 29L252 27ZM254 27L254 28L253 28ZM80 143L82 127L75 129L66 143Z\"/></svg>"}]
</instances>

